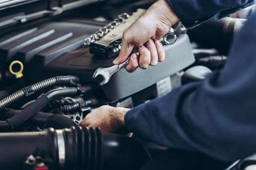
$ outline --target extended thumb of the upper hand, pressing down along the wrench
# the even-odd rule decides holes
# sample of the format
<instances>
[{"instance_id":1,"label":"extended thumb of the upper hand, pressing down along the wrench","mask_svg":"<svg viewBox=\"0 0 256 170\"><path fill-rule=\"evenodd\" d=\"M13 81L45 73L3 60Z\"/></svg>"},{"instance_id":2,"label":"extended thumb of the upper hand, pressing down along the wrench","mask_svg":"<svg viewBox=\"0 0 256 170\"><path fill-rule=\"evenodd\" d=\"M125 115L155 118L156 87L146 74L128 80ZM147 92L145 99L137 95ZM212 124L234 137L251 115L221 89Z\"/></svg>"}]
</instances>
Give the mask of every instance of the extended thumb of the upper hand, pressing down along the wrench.
<instances>
[{"instance_id":1,"label":"extended thumb of the upper hand, pressing down along the wrench","mask_svg":"<svg viewBox=\"0 0 256 170\"><path fill-rule=\"evenodd\" d=\"M132 38L132 34L130 34L129 31L126 31L122 37L122 46L119 52L119 56L113 61L113 64L118 65L128 59L134 47L134 45L132 45L132 43L130 42L130 38Z\"/></svg>"}]
</instances>

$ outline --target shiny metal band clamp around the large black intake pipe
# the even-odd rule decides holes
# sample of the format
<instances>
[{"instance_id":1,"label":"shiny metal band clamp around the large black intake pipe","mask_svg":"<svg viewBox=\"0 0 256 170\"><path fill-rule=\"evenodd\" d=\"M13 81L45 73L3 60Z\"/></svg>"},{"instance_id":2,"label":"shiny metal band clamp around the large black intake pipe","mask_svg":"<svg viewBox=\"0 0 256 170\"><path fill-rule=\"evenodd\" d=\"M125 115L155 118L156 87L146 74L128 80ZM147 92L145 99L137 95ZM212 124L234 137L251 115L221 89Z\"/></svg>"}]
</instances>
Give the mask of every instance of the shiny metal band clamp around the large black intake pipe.
<instances>
[{"instance_id":1,"label":"shiny metal band clamp around the large black intake pipe","mask_svg":"<svg viewBox=\"0 0 256 170\"><path fill-rule=\"evenodd\" d=\"M62 130L56 130L57 134L57 143L58 143L58 151L59 151L59 164L60 167L64 168L65 166L65 141Z\"/></svg>"}]
</instances>

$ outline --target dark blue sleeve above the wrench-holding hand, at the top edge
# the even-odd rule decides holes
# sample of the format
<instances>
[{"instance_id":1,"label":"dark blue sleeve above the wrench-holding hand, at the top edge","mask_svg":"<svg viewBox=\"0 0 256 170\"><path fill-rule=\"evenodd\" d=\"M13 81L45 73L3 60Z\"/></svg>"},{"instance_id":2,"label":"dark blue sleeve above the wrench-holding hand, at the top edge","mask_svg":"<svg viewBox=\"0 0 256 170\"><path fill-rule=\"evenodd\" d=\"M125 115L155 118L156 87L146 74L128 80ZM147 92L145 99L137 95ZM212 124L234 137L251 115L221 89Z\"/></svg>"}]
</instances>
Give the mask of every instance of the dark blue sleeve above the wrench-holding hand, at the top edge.
<instances>
[{"instance_id":1,"label":"dark blue sleeve above the wrench-holding hand, at the top edge","mask_svg":"<svg viewBox=\"0 0 256 170\"><path fill-rule=\"evenodd\" d=\"M188 28L226 17L248 7L254 0L166 0L173 12Z\"/></svg>"}]
</instances>

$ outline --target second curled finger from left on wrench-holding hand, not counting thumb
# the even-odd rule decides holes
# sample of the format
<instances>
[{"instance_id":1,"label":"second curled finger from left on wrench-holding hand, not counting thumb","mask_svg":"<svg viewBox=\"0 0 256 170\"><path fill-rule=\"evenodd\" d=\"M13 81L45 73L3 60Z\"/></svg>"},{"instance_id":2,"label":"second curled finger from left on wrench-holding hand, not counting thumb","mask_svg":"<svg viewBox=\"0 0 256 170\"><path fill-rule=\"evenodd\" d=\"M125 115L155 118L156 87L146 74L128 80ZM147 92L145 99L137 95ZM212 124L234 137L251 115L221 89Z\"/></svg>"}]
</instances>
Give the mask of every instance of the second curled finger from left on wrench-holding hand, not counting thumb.
<instances>
[{"instance_id":1,"label":"second curled finger from left on wrench-holding hand, not counting thumb","mask_svg":"<svg viewBox=\"0 0 256 170\"><path fill-rule=\"evenodd\" d=\"M149 64L151 61L150 51L144 45L138 48L140 57L139 57L139 67L142 69L149 68Z\"/></svg>"}]
</instances>

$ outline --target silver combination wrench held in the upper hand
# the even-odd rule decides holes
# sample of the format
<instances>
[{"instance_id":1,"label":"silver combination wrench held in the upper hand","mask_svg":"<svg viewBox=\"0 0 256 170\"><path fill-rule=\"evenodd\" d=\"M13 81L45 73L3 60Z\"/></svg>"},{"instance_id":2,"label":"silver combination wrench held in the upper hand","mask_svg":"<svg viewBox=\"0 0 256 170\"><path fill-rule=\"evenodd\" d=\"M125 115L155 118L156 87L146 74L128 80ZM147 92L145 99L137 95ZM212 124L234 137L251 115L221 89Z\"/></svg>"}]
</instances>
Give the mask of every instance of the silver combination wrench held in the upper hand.
<instances>
[{"instance_id":1,"label":"silver combination wrench held in the upper hand","mask_svg":"<svg viewBox=\"0 0 256 170\"><path fill-rule=\"evenodd\" d=\"M176 42L177 36L173 32L169 32L163 36L163 38L160 40L163 46L165 45L171 45ZM139 52L136 53L137 56L139 56ZM110 81L111 76L116 73L117 71L120 71L121 69L125 68L129 63L129 58L120 65L114 65L109 68L98 68L93 74L93 78L95 79L98 75L101 75L103 77L103 82L100 83L100 85L105 85Z\"/></svg>"}]
</instances>

